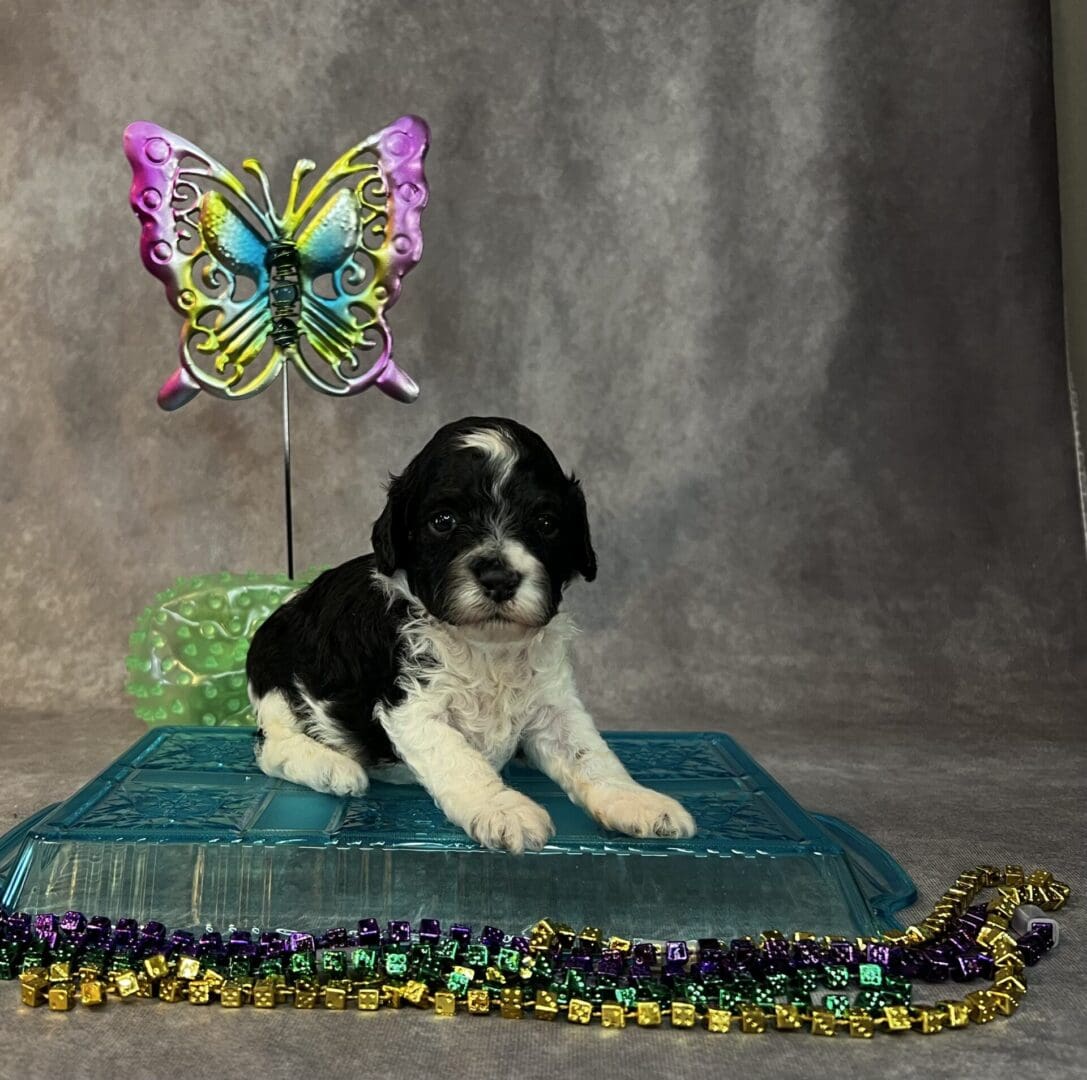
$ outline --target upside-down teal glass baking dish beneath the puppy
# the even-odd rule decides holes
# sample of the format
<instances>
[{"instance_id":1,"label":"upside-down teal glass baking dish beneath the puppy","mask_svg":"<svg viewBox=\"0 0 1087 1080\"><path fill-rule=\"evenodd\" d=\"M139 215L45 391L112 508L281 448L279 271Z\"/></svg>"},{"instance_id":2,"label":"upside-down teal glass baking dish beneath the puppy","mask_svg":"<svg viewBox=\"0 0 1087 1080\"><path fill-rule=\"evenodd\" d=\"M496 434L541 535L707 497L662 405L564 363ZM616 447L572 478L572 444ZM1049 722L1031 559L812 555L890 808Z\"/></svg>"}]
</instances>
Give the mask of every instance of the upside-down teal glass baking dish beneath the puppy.
<instances>
[{"instance_id":1,"label":"upside-down teal glass baking dish beneath the puppy","mask_svg":"<svg viewBox=\"0 0 1087 1080\"><path fill-rule=\"evenodd\" d=\"M375 916L514 932L550 916L659 939L867 935L915 899L882 847L807 813L727 736L605 738L636 779L687 806L697 837L609 832L514 764L508 781L547 807L557 833L538 853L489 852L421 788L318 794L264 776L249 730L162 727L0 839L2 904L190 930L321 930Z\"/></svg>"}]
</instances>

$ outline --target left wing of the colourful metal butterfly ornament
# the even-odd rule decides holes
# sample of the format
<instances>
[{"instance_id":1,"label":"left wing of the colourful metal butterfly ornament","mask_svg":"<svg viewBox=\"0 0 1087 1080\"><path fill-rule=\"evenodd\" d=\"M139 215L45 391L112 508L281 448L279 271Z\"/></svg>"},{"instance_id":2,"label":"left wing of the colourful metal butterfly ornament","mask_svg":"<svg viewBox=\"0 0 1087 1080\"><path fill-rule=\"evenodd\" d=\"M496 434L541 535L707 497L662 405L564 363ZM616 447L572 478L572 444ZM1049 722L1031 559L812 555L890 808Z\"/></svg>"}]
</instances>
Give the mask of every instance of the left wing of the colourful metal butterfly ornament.
<instances>
[{"instance_id":1,"label":"left wing of the colourful metal butterfly ornament","mask_svg":"<svg viewBox=\"0 0 1087 1080\"><path fill-rule=\"evenodd\" d=\"M258 393L284 361L271 336L265 267L275 222L229 169L173 131L129 124L124 145L140 256L185 321L180 367L159 404L178 409L201 389L223 398Z\"/></svg>"}]
</instances>

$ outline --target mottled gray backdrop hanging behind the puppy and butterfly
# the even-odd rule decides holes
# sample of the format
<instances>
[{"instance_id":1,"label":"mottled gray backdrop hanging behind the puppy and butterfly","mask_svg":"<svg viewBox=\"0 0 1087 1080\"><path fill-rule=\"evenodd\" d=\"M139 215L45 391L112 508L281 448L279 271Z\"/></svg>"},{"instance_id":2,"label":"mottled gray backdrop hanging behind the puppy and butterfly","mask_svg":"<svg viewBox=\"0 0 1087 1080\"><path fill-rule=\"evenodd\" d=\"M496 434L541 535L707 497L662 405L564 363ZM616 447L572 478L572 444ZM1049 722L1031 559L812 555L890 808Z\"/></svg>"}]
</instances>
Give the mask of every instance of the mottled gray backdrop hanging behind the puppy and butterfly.
<instances>
[{"instance_id":1,"label":"mottled gray backdrop hanging behind the puppy and butterfly","mask_svg":"<svg viewBox=\"0 0 1087 1080\"><path fill-rule=\"evenodd\" d=\"M277 394L154 405L140 117L280 191L432 124L423 395L298 390L303 564L367 549L438 424L508 414L585 477L612 726L1082 677L1044 4L15 0L0 40L5 704L120 703L159 588L282 565Z\"/></svg>"}]
</instances>

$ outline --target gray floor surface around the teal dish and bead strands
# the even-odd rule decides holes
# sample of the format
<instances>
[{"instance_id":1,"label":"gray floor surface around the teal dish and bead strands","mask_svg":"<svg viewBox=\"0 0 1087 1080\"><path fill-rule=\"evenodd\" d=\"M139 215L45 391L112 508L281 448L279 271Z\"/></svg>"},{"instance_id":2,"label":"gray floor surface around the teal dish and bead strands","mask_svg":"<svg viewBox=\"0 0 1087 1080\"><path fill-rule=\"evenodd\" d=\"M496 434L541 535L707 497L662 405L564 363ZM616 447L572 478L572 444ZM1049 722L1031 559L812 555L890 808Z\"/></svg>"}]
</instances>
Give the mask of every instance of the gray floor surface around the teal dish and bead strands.
<instances>
[{"instance_id":1,"label":"gray floor surface around the teal dish and bead strands","mask_svg":"<svg viewBox=\"0 0 1087 1080\"><path fill-rule=\"evenodd\" d=\"M50 1014L20 1006L8 983L0 984L0 1077L1084 1076L1087 753L1079 702L1062 699L960 703L938 718L873 720L858 709L729 727L801 803L883 843L917 883L915 913L978 862L1044 865L1073 886L1061 945L1030 970L1027 999L1011 1019L933 1038L717 1038L413 1012L223 1014L146 1002ZM0 826L71 794L143 730L121 711L0 714Z\"/></svg>"}]
</instances>

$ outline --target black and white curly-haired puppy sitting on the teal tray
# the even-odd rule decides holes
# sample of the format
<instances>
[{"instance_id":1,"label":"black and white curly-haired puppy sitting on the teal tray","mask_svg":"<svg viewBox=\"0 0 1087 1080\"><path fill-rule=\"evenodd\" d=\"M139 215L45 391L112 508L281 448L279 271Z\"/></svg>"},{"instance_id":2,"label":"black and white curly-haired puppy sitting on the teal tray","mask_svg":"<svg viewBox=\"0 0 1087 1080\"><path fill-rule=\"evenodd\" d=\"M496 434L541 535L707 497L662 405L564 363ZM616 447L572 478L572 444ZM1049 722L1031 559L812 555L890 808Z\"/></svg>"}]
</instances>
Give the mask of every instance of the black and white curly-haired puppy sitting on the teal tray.
<instances>
[{"instance_id":1,"label":"black and white curly-haired puppy sitting on the teal tray","mask_svg":"<svg viewBox=\"0 0 1087 1080\"><path fill-rule=\"evenodd\" d=\"M339 795L367 774L417 781L479 843L522 852L554 826L499 776L520 752L607 828L694 834L577 696L559 604L597 561L580 485L538 435L493 417L441 428L392 480L372 540L253 638L264 773Z\"/></svg>"}]
</instances>

